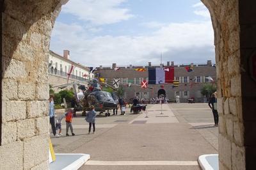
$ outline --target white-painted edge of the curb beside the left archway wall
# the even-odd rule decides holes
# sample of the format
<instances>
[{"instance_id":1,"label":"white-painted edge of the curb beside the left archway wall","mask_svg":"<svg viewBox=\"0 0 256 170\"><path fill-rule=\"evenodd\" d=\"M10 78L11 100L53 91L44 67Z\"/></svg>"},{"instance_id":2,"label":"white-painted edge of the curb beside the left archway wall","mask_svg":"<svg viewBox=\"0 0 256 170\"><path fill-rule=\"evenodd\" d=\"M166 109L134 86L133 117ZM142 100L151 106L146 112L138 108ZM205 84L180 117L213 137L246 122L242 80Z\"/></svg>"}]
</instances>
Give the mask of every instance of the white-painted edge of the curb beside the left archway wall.
<instances>
[{"instance_id":1,"label":"white-painted edge of the curb beside the left archway wall","mask_svg":"<svg viewBox=\"0 0 256 170\"><path fill-rule=\"evenodd\" d=\"M83 155L82 157L72 162L72 164L69 164L62 170L77 170L90 159L90 155L84 153L56 153L55 155Z\"/></svg>"}]
</instances>

